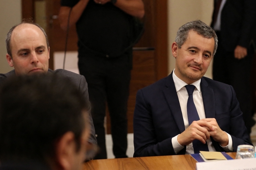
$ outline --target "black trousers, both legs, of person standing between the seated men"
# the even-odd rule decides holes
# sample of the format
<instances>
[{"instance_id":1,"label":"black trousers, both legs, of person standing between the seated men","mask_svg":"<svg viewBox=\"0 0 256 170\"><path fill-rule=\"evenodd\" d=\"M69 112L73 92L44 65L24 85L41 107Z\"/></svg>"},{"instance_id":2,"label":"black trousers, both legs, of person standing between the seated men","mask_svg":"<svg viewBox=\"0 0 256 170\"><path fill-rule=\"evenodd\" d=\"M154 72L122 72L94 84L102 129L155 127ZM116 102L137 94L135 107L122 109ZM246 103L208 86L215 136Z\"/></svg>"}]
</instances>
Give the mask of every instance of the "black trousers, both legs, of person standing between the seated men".
<instances>
[{"instance_id":1,"label":"black trousers, both legs, of person standing between the seated men","mask_svg":"<svg viewBox=\"0 0 256 170\"><path fill-rule=\"evenodd\" d=\"M111 58L79 52L78 67L88 83L92 120L100 148L94 159L107 159L104 117L106 101L111 120L113 153L127 158L127 100L131 79L132 50Z\"/></svg>"}]
</instances>

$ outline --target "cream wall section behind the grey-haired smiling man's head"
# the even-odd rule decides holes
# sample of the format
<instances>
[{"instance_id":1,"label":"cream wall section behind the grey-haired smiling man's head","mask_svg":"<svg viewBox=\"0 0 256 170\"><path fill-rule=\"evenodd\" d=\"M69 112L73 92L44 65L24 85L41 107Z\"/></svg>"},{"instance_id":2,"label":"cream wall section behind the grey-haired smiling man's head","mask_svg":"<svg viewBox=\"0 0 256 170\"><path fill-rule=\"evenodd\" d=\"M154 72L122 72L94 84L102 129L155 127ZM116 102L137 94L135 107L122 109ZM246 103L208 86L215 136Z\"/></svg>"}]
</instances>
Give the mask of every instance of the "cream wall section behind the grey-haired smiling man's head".
<instances>
[{"instance_id":1,"label":"cream wall section behind the grey-haired smiling man's head","mask_svg":"<svg viewBox=\"0 0 256 170\"><path fill-rule=\"evenodd\" d=\"M207 25L210 25L212 11L213 0L168 0L169 73L175 68L175 58L172 56L171 46L179 27L196 19L200 19ZM205 76L212 78L212 62Z\"/></svg>"}]
</instances>

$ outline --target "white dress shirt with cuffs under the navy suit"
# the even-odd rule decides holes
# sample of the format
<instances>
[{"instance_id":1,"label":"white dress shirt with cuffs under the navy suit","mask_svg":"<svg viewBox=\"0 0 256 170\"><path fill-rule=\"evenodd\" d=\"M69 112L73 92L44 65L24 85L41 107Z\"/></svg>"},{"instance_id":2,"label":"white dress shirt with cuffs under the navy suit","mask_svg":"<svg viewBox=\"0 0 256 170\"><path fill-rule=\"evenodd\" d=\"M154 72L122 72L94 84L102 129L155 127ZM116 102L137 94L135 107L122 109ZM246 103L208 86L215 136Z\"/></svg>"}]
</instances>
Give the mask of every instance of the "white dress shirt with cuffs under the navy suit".
<instances>
[{"instance_id":1,"label":"white dress shirt with cuffs under the navy suit","mask_svg":"<svg viewBox=\"0 0 256 170\"><path fill-rule=\"evenodd\" d=\"M184 81L182 81L180 78L178 78L175 75L174 71L175 71L175 69L173 70L172 78L173 78L173 81L174 81L176 92L178 94L185 129L187 129L188 126L189 126L188 125L188 114L187 114L188 92L187 92L187 89L186 89L185 85L188 85L188 84L185 83ZM196 86L196 88L193 92L193 100L194 100L199 118L200 119L205 119L204 104L203 104L203 97L202 97L200 83L201 83L201 79L197 80L196 82L191 84L191 85ZM177 140L177 137L178 137L178 135L172 138L172 147L173 147L176 154L184 148L184 146L181 146L179 144L179 142ZM216 151L213 144L212 144L211 139L207 139L207 145L208 145L209 151ZM222 147L222 148L226 152L232 152L233 151L232 138L229 134L228 134L228 145L225 146L225 147ZM193 154L193 153L194 153L193 143L188 144L187 148L186 148L186 154Z\"/></svg>"}]
</instances>

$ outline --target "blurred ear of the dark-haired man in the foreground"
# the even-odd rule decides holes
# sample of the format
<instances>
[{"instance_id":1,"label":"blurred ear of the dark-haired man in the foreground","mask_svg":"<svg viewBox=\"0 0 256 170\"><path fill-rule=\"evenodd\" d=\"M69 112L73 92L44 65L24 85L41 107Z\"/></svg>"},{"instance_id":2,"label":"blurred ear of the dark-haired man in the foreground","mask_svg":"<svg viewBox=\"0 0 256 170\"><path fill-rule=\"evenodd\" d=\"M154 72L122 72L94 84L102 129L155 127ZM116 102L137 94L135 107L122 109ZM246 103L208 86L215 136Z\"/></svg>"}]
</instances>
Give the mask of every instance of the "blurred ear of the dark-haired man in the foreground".
<instances>
[{"instance_id":1,"label":"blurred ear of the dark-haired man in the foreground","mask_svg":"<svg viewBox=\"0 0 256 170\"><path fill-rule=\"evenodd\" d=\"M56 163L63 170L72 169L74 155L76 153L75 135L73 132L66 132L55 145Z\"/></svg>"}]
</instances>

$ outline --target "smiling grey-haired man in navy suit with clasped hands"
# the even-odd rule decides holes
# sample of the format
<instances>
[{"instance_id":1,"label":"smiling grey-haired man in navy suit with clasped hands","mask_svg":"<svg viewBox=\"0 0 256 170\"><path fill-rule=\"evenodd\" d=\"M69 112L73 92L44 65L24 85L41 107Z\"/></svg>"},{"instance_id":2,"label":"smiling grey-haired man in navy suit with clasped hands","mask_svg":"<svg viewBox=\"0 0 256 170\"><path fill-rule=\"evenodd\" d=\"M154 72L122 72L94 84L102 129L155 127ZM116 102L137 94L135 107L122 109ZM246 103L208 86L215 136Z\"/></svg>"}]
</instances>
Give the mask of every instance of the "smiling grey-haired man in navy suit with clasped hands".
<instances>
[{"instance_id":1,"label":"smiling grey-haired man in navy suit with clasped hands","mask_svg":"<svg viewBox=\"0 0 256 170\"><path fill-rule=\"evenodd\" d=\"M134 157L236 152L250 144L234 89L203 77L217 49L214 30L200 20L181 26L172 73L138 91Z\"/></svg>"}]
</instances>

